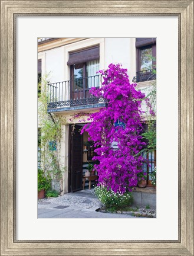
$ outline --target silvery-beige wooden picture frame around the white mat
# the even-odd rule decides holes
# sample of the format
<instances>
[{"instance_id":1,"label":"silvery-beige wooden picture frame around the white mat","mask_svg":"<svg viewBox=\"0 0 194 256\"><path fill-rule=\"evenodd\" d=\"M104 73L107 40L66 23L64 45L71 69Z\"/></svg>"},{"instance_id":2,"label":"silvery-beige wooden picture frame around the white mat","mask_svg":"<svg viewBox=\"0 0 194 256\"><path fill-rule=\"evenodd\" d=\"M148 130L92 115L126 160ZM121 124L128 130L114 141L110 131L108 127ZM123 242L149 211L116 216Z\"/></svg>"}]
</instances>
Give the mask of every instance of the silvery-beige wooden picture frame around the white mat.
<instances>
[{"instance_id":1,"label":"silvery-beige wooden picture frame around the white mat","mask_svg":"<svg viewBox=\"0 0 194 256\"><path fill-rule=\"evenodd\" d=\"M37 8L38 6L38 8ZM177 241L17 241L15 239L16 15L179 17L179 239ZM193 0L1 1L1 255L193 254Z\"/></svg>"}]
</instances>

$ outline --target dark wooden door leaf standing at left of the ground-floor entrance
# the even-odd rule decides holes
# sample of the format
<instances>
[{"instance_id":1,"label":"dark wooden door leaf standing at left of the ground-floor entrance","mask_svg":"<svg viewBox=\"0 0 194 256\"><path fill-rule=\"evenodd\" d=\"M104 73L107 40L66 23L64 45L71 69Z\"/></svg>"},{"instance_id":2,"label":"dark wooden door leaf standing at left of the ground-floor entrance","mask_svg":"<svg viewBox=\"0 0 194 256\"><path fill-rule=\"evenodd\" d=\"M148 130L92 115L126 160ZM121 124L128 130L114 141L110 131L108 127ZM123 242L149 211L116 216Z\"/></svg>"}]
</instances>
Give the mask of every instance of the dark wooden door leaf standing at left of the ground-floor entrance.
<instances>
[{"instance_id":1,"label":"dark wooden door leaf standing at left of the ground-floor entrance","mask_svg":"<svg viewBox=\"0 0 194 256\"><path fill-rule=\"evenodd\" d=\"M70 188L69 191L74 192L82 190L83 183L83 137L80 135L80 126L75 125L74 130L71 126L70 137Z\"/></svg>"}]
</instances>

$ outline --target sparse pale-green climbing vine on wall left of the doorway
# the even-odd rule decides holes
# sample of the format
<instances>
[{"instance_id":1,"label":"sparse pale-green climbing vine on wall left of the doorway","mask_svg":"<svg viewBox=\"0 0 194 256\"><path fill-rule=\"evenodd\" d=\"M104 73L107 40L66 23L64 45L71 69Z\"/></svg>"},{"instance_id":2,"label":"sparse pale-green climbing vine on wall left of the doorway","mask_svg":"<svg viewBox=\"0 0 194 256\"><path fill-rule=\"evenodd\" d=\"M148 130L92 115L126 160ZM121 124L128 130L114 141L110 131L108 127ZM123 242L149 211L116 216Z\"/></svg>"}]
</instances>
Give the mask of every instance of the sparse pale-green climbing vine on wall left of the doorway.
<instances>
[{"instance_id":1,"label":"sparse pale-green climbing vine on wall left of the doorway","mask_svg":"<svg viewBox=\"0 0 194 256\"><path fill-rule=\"evenodd\" d=\"M40 148L41 148L41 169L50 174L52 180L61 180L65 167L60 163L61 147L61 126L65 124L64 117L47 112L47 79L46 75L38 88L40 92L38 98L38 122L41 126Z\"/></svg>"}]
</instances>

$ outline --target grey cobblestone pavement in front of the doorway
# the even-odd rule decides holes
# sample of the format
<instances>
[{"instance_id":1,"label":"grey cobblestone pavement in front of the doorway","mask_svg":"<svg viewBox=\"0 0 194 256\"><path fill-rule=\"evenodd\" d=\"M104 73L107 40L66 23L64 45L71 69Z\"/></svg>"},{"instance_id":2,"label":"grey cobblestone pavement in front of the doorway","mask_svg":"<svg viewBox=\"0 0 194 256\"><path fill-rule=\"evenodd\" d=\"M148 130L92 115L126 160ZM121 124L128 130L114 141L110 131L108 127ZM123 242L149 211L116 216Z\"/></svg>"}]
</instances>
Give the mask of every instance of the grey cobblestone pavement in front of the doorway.
<instances>
[{"instance_id":1,"label":"grey cobblestone pavement in front of the doorway","mask_svg":"<svg viewBox=\"0 0 194 256\"><path fill-rule=\"evenodd\" d=\"M94 190L38 200L38 218L131 218L127 214L96 212L101 207Z\"/></svg>"}]
</instances>

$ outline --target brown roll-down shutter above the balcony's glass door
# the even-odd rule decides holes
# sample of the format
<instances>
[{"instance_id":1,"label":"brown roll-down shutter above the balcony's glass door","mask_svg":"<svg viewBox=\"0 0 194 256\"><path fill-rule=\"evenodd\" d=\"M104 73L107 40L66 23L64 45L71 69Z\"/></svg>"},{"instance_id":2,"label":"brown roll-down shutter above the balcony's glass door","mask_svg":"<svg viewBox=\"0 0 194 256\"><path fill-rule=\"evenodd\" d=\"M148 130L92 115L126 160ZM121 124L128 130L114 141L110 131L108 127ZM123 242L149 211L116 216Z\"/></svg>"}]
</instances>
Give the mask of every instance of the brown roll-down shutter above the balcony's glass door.
<instances>
[{"instance_id":1,"label":"brown roll-down shutter above the balcony's glass door","mask_svg":"<svg viewBox=\"0 0 194 256\"><path fill-rule=\"evenodd\" d=\"M85 63L96 59L100 59L99 45L70 53L67 65L71 66L74 64Z\"/></svg>"}]
</instances>

